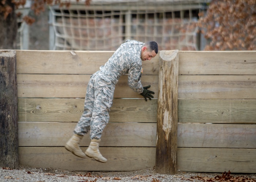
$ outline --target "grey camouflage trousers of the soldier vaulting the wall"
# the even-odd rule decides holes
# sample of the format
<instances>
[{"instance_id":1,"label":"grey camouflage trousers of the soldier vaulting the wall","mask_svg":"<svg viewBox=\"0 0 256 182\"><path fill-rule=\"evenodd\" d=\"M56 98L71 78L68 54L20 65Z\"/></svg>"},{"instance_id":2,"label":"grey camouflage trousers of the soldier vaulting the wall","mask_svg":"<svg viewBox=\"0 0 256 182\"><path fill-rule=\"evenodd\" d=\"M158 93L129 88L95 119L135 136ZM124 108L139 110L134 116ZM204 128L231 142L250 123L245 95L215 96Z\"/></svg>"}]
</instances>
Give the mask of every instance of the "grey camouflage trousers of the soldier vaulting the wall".
<instances>
[{"instance_id":1,"label":"grey camouflage trousers of the soldier vaulting the wall","mask_svg":"<svg viewBox=\"0 0 256 182\"><path fill-rule=\"evenodd\" d=\"M103 129L109 122L110 107L112 107L115 84L101 71L91 75L87 86L84 102L84 112L76 124L74 133L87 134L91 139L100 139Z\"/></svg>"}]
</instances>

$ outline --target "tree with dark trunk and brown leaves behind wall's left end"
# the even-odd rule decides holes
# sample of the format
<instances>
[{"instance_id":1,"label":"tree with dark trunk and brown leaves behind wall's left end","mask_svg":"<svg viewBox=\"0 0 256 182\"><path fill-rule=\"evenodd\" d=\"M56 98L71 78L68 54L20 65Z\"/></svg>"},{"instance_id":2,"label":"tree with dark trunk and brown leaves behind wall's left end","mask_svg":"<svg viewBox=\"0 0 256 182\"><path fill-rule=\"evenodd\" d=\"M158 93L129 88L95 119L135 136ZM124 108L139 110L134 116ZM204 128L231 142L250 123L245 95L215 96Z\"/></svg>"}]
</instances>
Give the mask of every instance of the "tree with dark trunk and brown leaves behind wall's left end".
<instances>
[{"instance_id":1,"label":"tree with dark trunk and brown leaves behind wall's left end","mask_svg":"<svg viewBox=\"0 0 256 182\"><path fill-rule=\"evenodd\" d=\"M84 0L86 5L89 5L90 1L91 0ZM70 1L61 3L60 0L34 0L32 3L31 9L33 9L35 15L45 11L45 4L60 4L60 6L65 5L67 7L70 5ZM16 15L15 9L25 4L26 0L0 0L0 50L16 49L16 35L18 30L17 16L21 15ZM27 24L32 24L35 21L29 16L25 16L23 20Z\"/></svg>"}]
</instances>

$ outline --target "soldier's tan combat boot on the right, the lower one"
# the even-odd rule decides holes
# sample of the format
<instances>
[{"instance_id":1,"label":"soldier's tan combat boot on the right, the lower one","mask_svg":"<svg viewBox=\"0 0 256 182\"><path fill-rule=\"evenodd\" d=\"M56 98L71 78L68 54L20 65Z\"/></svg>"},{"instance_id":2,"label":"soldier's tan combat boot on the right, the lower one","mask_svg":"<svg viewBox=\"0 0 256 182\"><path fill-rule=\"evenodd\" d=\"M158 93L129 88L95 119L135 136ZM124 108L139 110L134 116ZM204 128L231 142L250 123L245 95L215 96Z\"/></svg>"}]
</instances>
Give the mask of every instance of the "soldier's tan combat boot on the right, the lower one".
<instances>
[{"instance_id":1,"label":"soldier's tan combat boot on the right, the lower one","mask_svg":"<svg viewBox=\"0 0 256 182\"><path fill-rule=\"evenodd\" d=\"M99 142L101 139L92 139L90 146L88 149L85 151L85 154L87 157L94 158L96 161L99 162L107 162L108 160L102 157L101 153L99 152Z\"/></svg>"}]
</instances>

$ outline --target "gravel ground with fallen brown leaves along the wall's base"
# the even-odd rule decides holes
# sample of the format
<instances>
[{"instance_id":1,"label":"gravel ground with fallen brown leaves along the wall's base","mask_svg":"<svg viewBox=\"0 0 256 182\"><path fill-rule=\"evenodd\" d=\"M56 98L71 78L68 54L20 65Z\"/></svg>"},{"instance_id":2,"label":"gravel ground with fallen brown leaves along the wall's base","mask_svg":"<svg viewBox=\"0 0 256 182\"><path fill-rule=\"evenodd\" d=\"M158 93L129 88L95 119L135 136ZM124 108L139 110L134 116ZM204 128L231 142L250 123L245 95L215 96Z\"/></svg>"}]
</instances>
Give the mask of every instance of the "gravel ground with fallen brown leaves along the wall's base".
<instances>
[{"instance_id":1,"label":"gravel ground with fallen brown leaves along the wall's base","mask_svg":"<svg viewBox=\"0 0 256 182\"><path fill-rule=\"evenodd\" d=\"M224 175L223 175L224 174ZM178 171L163 175L154 169L138 171L68 171L52 168L20 166L19 170L0 168L0 182L184 182L184 181L256 182L256 174L191 173Z\"/></svg>"}]
</instances>

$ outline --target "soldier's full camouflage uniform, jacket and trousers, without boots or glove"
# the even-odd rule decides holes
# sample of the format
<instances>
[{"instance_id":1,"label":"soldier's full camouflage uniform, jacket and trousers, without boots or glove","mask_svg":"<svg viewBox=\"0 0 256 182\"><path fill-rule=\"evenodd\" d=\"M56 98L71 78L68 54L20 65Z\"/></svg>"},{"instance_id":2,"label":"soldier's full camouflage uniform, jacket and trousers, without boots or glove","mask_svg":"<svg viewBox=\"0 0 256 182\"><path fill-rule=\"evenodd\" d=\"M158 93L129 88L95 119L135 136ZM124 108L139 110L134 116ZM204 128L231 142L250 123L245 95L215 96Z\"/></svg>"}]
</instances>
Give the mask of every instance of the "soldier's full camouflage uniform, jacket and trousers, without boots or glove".
<instances>
[{"instance_id":1,"label":"soldier's full camouflage uniform, jacket and trousers, without boots or glove","mask_svg":"<svg viewBox=\"0 0 256 182\"><path fill-rule=\"evenodd\" d=\"M127 40L114 52L113 56L91 75L87 86L84 112L74 133L84 135L89 130L91 139L100 139L109 121L114 89L120 76L128 74L128 85L139 94L143 92L140 82L142 74L141 49L144 43Z\"/></svg>"}]
</instances>

